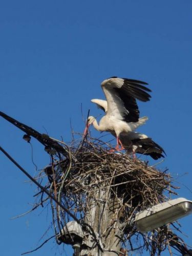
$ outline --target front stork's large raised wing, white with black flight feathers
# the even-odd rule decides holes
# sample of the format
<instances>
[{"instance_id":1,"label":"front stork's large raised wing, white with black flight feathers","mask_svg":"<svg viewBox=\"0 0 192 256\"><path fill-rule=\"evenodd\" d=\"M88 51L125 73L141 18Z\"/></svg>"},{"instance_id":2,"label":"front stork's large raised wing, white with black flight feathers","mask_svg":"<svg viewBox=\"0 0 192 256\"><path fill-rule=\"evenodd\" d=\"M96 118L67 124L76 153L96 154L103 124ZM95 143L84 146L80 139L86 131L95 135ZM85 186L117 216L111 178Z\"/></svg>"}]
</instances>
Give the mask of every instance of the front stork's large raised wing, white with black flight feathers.
<instances>
[{"instance_id":1,"label":"front stork's large raised wing, white with black flight feathers","mask_svg":"<svg viewBox=\"0 0 192 256\"><path fill-rule=\"evenodd\" d=\"M139 109L136 99L145 102L151 98L147 93L151 90L142 84L147 83L118 77L104 80L101 87L106 97L108 114L126 122L138 122Z\"/></svg>"}]
</instances>

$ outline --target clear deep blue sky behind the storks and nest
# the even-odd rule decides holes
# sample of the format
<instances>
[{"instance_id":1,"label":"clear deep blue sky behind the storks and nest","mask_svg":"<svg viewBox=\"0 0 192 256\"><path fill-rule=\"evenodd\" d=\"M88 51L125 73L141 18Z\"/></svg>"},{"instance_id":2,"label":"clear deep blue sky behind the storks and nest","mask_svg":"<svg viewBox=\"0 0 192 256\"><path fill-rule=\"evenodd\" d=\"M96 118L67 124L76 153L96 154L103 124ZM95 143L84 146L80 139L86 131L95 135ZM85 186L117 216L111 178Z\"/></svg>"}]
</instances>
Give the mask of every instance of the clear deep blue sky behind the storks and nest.
<instances>
[{"instance_id":1,"label":"clear deep blue sky behind the storks and nest","mask_svg":"<svg viewBox=\"0 0 192 256\"><path fill-rule=\"evenodd\" d=\"M139 103L141 116L149 117L139 131L164 148L167 157L159 168L168 167L180 196L191 199L191 8L189 0L1 2L1 111L68 142L70 119L74 131L84 129L81 103L84 117L88 109L100 114L90 99L104 98L102 80L144 80L153 92L150 102ZM3 119L0 125L0 144L35 175L23 133ZM49 157L39 143L32 144L34 162L43 168ZM17 256L36 247L51 213L39 209L10 220L31 208L36 187L3 154L0 159L1 254ZM191 218L181 220L189 244ZM62 248L51 240L33 255L55 252Z\"/></svg>"}]
</instances>

